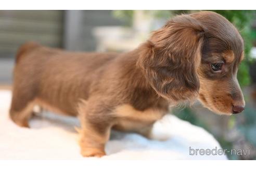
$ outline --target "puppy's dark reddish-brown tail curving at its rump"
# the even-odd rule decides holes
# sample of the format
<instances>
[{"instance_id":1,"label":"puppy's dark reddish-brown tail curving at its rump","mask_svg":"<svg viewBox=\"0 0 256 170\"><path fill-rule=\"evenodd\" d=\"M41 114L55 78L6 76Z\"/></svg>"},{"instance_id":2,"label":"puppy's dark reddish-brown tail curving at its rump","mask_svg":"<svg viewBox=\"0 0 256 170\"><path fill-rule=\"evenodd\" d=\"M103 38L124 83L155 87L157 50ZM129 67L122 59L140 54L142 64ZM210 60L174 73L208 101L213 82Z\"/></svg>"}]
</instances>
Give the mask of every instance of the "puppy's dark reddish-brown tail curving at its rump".
<instances>
[{"instance_id":1,"label":"puppy's dark reddish-brown tail curving at its rump","mask_svg":"<svg viewBox=\"0 0 256 170\"><path fill-rule=\"evenodd\" d=\"M21 45L20 48L18 49L17 54L16 54L16 61L15 62L18 63L25 53L27 53L28 51L31 51L31 50L33 50L37 47L40 47L40 44L37 44L37 43L32 42L32 41Z\"/></svg>"}]
</instances>

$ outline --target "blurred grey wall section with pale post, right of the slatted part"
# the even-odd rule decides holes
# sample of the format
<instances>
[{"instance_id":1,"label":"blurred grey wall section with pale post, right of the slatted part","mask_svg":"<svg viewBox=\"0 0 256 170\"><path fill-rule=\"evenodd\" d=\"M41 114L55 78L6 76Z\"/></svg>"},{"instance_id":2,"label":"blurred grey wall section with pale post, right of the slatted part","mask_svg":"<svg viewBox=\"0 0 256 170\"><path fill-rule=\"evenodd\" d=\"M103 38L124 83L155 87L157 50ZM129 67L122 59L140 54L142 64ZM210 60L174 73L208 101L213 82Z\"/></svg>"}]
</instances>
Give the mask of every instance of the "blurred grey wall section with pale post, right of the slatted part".
<instances>
[{"instance_id":1,"label":"blurred grey wall section with pale post, right of the slatted part","mask_svg":"<svg viewBox=\"0 0 256 170\"><path fill-rule=\"evenodd\" d=\"M69 10L65 12L65 42L68 50L94 51L96 39L92 31L96 26L123 25L112 16L111 10Z\"/></svg>"}]
</instances>

